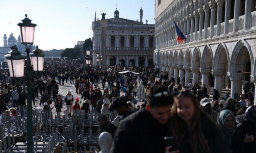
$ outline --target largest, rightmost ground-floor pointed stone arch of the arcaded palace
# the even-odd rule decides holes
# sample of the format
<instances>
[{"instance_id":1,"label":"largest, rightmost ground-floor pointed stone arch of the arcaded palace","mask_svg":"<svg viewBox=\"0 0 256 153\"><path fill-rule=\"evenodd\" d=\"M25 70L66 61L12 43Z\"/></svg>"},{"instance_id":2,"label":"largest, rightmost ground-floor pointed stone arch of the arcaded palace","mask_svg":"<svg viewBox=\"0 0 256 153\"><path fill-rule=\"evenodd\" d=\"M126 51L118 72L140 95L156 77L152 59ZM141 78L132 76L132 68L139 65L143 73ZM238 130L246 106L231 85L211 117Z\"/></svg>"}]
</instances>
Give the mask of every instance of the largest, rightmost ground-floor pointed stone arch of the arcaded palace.
<instances>
[{"instance_id":1,"label":"largest, rightmost ground-floor pointed stone arch of the arcaded palace","mask_svg":"<svg viewBox=\"0 0 256 153\"><path fill-rule=\"evenodd\" d=\"M236 43L231 55L230 69L229 69L230 72L244 71L244 68L241 65L244 65L246 64L244 62L247 62L246 59L248 58L248 56L246 56L246 53L249 53L249 58L251 60L251 72L253 72L253 65L254 65L253 52L246 40L239 40ZM240 62L240 63L237 63L237 62Z\"/></svg>"}]
</instances>

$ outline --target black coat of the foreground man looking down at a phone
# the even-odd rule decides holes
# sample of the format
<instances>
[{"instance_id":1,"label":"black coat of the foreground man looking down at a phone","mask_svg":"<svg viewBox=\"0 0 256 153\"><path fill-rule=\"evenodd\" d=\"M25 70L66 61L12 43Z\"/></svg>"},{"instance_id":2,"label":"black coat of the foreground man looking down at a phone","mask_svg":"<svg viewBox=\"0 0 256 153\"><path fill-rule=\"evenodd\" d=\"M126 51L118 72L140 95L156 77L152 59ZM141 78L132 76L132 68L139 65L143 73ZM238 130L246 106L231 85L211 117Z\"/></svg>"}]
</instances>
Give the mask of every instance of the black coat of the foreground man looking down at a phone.
<instances>
[{"instance_id":1,"label":"black coat of the foreground man looking down at a phone","mask_svg":"<svg viewBox=\"0 0 256 153\"><path fill-rule=\"evenodd\" d=\"M117 128L110 153L165 153L167 128L146 108L138 110Z\"/></svg>"}]
</instances>

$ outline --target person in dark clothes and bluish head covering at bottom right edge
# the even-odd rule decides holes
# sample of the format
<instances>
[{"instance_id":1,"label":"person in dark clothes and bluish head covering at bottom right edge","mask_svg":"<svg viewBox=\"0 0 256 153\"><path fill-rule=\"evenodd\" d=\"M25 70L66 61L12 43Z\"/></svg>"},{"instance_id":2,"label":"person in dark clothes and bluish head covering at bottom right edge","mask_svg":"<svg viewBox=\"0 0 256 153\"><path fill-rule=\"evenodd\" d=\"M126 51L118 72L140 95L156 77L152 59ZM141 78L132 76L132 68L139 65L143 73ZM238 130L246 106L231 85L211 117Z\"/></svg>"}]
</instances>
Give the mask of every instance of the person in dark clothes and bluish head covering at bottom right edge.
<instances>
[{"instance_id":1,"label":"person in dark clothes and bluish head covering at bottom right edge","mask_svg":"<svg viewBox=\"0 0 256 153\"><path fill-rule=\"evenodd\" d=\"M236 116L237 128L242 132L244 139L244 153L256 151L256 106L248 107L245 114Z\"/></svg>"}]
</instances>

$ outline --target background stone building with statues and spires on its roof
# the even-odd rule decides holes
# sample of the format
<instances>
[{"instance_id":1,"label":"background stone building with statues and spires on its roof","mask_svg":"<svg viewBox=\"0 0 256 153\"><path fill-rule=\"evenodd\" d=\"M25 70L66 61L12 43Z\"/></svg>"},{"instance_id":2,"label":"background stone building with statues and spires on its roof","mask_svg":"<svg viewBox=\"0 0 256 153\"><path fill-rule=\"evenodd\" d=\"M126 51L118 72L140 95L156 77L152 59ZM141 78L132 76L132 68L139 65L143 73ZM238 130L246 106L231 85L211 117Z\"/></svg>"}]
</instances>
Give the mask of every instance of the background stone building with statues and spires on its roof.
<instances>
[{"instance_id":1,"label":"background stone building with statues and spires on its roof","mask_svg":"<svg viewBox=\"0 0 256 153\"><path fill-rule=\"evenodd\" d=\"M106 58L107 65L154 66L155 25L143 24L142 18L143 10L140 9L140 21L120 18L118 10L115 10L114 18L106 19L109 22L106 28L106 57L103 58ZM96 54L100 54L101 30L96 14L92 28L93 64L97 65Z\"/></svg>"}]
</instances>

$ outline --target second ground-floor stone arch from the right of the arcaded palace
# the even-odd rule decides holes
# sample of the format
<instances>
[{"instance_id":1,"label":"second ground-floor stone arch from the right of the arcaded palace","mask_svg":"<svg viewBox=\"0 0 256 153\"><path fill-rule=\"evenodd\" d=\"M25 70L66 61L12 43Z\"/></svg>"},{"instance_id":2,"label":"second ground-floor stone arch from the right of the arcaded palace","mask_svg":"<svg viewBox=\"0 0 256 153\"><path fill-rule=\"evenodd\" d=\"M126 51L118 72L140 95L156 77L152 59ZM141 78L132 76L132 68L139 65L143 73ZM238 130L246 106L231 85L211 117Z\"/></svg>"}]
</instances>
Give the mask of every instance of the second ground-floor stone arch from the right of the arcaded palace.
<instances>
[{"instance_id":1,"label":"second ground-floor stone arch from the right of the arcaded palace","mask_svg":"<svg viewBox=\"0 0 256 153\"><path fill-rule=\"evenodd\" d=\"M225 63L225 59L227 63ZM225 64L227 64L227 71L229 72L229 52L227 47L224 43L220 43L216 49L215 56L214 56L214 63L213 63L213 70L225 70Z\"/></svg>"}]
</instances>

